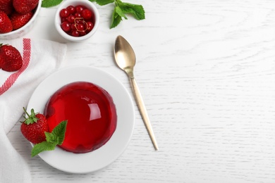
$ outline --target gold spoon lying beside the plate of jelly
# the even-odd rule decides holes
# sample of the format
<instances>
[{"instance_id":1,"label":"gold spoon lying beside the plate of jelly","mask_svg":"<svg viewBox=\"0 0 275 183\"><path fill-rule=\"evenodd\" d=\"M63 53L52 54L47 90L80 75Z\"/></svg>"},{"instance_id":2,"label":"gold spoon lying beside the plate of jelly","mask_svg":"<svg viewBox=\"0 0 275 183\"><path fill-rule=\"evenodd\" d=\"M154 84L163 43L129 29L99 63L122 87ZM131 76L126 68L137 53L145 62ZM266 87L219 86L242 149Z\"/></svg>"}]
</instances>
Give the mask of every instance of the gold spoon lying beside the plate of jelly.
<instances>
[{"instance_id":1,"label":"gold spoon lying beside the plate of jelly","mask_svg":"<svg viewBox=\"0 0 275 183\"><path fill-rule=\"evenodd\" d=\"M159 147L157 146L157 141L154 137L154 132L152 130L145 104L143 102L142 96L140 94L140 89L138 88L138 83L135 81L133 73L135 66L135 52L133 51L130 44L126 41L126 39L124 39L122 36L116 37L114 56L118 67L124 70L130 79L132 89L135 94L135 101L138 103L138 108L145 123L145 127L147 128L149 137L152 140L154 149L157 151L159 150Z\"/></svg>"}]
</instances>

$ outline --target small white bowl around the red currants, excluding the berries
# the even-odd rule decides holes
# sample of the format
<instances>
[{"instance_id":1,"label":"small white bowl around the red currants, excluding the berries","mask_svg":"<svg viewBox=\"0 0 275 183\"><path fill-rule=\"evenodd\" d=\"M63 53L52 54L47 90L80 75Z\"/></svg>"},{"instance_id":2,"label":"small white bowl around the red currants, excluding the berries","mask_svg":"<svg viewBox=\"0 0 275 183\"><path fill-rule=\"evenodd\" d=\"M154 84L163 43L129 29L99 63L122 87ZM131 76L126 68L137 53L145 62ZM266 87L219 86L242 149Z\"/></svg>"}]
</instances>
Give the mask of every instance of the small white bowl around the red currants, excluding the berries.
<instances>
[{"instance_id":1,"label":"small white bowl around the red currants, excluding the berries","mask_svg":"<svg viewBox=\"0 0 275 183\"><path fill-rule=\"evenodd\" d=\"M61 18L60 18L59 12L61 11L61 9L67 8L68 6L78 6L78 5L85 6L86 8L90 9L90 11L92 11L94 13L94 27L92 28L92 30L89 33L87 33L84 36L73 37L61 29ZM92 35L97 31L97 27L99 25L99 12L97 10L97 7L94 6L94 4L92 4L91 1L88 1L88 0L82 0L82 1L66 0L66 1L63 1L61 4L59 4L59 8L57 8L57 10L56 10L56 15L54 18L54 25L56 27L57 32L59 32L59 34L63 38L65 38L71 42L82 42L82 41L92 37Z\"/></svg>"}]
</instances>

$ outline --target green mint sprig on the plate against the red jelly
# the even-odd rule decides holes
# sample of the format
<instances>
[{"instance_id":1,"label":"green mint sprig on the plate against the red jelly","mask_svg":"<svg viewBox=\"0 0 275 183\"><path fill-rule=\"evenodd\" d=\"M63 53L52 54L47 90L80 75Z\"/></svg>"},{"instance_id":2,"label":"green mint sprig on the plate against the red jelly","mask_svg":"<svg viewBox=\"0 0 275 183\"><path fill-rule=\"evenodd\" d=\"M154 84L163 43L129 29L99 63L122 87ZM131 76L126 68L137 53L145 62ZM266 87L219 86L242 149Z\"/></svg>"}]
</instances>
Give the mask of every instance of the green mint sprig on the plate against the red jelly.
<instances>
[{"instance_id":1,"label":"green mint sprig on the plate against the red jelly","mask_svg":"<svg viewBox=\"0 0 275 183\"><path fill-rule=\"evenodd\" d=\"M46 141L35 144L32 148L31 156L37 156L42 151L52 151L57 145L61 145L65 139L67 121L64 120L57 125L52 132L45 132Z\"/></svg>"}]
</instances>

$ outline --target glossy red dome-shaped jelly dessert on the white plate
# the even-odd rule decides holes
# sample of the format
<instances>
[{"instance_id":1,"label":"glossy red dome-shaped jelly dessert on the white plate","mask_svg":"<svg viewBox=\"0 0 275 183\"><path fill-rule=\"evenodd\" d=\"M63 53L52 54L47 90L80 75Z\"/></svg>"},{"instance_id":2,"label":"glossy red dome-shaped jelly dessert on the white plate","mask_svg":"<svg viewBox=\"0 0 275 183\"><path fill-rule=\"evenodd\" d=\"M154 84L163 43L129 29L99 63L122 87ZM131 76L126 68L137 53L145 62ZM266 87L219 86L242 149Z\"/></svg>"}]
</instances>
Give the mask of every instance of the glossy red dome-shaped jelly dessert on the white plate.
<instances>
[{"instance_id":1,"label":"glossy red dome-shaped jelly dessert on the white plate","mask_svg":"<svg viewBox=\"0 0 275 183\"><path fill-rule=\"evenodd\" d=\"M62 149L87 153L106 144L116 130L116 106L102 87L73 82L56 91L44 110L50 132L68 120Z\"/></svg>"}]
</instances>

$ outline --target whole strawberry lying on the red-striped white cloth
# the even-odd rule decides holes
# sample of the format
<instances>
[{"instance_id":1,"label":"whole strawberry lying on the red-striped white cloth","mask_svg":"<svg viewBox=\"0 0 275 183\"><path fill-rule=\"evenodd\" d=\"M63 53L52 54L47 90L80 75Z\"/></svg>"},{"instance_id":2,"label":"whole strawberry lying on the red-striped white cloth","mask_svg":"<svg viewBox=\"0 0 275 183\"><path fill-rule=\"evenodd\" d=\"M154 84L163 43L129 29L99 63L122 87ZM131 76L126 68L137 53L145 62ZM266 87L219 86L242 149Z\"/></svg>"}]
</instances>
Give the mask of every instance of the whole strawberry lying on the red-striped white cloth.
<instances>
[{"instance_id":1,"label":"whole strawberry lying on the red-striped white cloth","mask_svg":"<svg viewBox=\"0 0 275 183\"><path fill-rule=\"evenodd\" d=\"M8 72L19 70L23 60L18 49L11 45L0 44L0 68Z\"/></svg>"}]
</instances>

